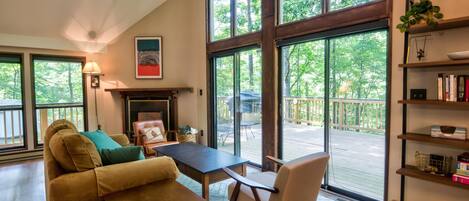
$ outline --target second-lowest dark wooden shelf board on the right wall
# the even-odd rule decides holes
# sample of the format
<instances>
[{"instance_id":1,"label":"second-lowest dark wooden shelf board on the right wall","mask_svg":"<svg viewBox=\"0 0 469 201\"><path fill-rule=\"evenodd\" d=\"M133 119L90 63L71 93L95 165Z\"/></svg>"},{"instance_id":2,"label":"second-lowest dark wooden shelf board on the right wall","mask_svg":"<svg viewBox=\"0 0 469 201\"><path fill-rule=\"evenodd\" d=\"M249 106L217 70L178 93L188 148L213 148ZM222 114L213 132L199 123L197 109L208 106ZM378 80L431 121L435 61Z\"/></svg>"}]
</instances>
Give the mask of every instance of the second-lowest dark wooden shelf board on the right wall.
<instances>
[{"instance_id":1,"label":"second-lowest dark wooden shelf board on the right wall","mask_svg":"<svg viewBox=\"0 0 469 201\"><path fill-rule=\"evenodd\" d=\"M469 141L467 140L452 140L445 138L434 138L426 134L406 133L397 136L399 139L419 141L431 144L445 145L452 148L467 149L469 150Z\"/></svg>"}]
</instances>

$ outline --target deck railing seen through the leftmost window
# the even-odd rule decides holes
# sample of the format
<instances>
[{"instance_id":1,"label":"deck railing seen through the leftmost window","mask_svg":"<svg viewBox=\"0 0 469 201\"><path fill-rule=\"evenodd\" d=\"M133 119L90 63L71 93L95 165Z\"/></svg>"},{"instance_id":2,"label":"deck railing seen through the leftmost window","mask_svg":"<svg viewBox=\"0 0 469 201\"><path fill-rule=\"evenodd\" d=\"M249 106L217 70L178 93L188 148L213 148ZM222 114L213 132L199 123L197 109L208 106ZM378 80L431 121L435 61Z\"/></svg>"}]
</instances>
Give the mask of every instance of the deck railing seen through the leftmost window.
<instances>
[{"instance_id":1,"label":"deck railing seen through the leftmost window","mask_svg":"<svg viewBox=\"0 0 469 201\"><path fill-rule=\"evenodd\" d=\"M21 106L0 107L0 148L24 144L23 109Z\"/></svg>"}]
</instances>

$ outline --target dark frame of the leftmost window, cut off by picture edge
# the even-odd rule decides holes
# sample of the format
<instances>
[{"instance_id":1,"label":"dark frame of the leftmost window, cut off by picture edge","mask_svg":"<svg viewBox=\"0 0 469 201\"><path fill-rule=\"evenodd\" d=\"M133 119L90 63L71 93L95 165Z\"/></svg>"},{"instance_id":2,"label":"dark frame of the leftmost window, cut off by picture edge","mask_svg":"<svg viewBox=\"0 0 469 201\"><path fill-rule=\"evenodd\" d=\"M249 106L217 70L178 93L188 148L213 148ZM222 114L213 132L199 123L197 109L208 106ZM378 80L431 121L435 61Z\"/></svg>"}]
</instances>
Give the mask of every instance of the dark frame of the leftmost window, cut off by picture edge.
<instances>
[{"instance_id":1,"label":"dark frame of the leftmost window, cut off by picture edge","mask_svg":"<svg viewBox=\"0 0 469 201\"><path fill-rule=\"evenodd\" d=\"M22 146L12 146L0 149L0 154L2 153L9 153L14 151L24 151L28 149L28 131L27 131L27 118L26 118L26 81L25 81L25 70L24 70L24 53L19 52L0 52L2 56L12 56L18 57L20 59L20 72L21 72L21 111L22 114L22 129L23 129L23 145ZM2 154L3 155L3 154Z\"/></svg>"}]
</instances>

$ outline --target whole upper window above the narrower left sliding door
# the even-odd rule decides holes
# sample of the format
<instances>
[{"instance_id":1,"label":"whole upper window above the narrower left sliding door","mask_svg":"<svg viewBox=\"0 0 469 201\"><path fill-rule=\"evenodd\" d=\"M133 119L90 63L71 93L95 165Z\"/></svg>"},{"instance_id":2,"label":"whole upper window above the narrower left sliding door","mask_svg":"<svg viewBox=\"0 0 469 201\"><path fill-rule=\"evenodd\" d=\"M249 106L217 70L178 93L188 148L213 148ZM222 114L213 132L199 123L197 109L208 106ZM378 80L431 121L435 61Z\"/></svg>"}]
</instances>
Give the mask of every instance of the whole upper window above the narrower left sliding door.
<instances>
[{"instance_id":1,"label":"whole upper window above the narrower left sliding door","mask_svg":"<svg viewBox=\"0 0 469 201\"><path fill-rule=\"evenodd\" d=\"M261 29L261 0L209 0L211 41Z\"/></svg>"}]
</instances>

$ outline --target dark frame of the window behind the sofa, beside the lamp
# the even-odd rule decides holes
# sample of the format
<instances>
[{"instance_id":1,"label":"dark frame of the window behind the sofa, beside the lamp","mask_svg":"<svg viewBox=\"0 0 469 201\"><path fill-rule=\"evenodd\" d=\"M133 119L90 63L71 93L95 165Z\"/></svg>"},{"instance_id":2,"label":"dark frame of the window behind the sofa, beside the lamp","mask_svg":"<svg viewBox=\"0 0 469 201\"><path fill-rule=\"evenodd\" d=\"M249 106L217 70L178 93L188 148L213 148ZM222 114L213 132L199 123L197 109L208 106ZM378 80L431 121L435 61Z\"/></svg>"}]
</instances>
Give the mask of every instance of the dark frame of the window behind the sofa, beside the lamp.
<instances>
[{"instance_id":1,"label":"dark frame of the window behind the sofa, beside the lamp","mask_svg":"<svg viewBox=\"0 0 469 201\"><path fill-rule=\"evenodd\" d=\"M35 85L35 60L49 60L49 61L72 61L72 62L80 62L81 68L83 69L86 64L86 57L82 56L66 56L66 55L52 55L52 54L30 54L30 64L31 64L31 105L32 105L32 116L33 116L33 141L34 141L34 148L40 149L43 147L44 144L39 144L39 136L37 132L37 109L41 109L44 107L38 107L36 104L36 85ZM86 84L86 75L81 73L82 76L82 88L83 88L83 124L84 130L88 130L88 90ZM80 106L81 107L81 106Z\"/></svg>"}]
</instances>

